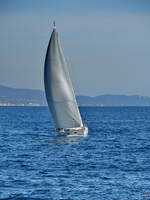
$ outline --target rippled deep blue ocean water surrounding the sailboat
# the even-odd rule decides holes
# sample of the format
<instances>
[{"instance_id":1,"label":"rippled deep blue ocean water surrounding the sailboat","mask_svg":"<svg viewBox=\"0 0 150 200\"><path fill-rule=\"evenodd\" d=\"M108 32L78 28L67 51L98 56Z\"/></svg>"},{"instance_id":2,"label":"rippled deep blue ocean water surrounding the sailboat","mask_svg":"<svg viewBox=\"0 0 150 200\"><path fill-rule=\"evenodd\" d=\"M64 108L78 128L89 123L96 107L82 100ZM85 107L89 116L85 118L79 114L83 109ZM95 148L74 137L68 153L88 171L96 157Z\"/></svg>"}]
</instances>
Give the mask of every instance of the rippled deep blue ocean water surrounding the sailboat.
<instances>
[{"instance_id":1,"label":"rippled deep blue ocean water surrounding the sailboat","mask_svg":"<svg viewBox=\"0 0 150 200\"><path fill-rule=\"evenodd\" d=\"M60 137L47 107L0 107L0 199L150 199L150 108L82 107Z\"/></svg>"}]
</instances>

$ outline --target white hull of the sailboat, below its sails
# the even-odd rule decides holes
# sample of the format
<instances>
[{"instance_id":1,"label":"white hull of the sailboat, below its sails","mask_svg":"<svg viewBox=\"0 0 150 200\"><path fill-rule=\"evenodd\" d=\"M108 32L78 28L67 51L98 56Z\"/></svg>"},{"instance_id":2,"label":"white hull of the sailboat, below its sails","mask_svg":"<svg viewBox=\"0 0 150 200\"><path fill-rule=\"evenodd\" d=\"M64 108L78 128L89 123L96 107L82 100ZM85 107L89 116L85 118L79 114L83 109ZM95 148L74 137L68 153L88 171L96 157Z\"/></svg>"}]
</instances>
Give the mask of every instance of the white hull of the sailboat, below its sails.
<instances>
[{"instance_id":1,"label":"white hull of the sailboat, below its sails","mask_svg":"<svg viewBox=\"0 0 150 200\"><path fill-rule=\"evenodd\" d=\"M70 137L73 136L82 136L86 137L88 135L88 127L82 126L77 128L66 128L66 129L56 129L60 134L67 135Z\"/></svg>"}]
</instances>

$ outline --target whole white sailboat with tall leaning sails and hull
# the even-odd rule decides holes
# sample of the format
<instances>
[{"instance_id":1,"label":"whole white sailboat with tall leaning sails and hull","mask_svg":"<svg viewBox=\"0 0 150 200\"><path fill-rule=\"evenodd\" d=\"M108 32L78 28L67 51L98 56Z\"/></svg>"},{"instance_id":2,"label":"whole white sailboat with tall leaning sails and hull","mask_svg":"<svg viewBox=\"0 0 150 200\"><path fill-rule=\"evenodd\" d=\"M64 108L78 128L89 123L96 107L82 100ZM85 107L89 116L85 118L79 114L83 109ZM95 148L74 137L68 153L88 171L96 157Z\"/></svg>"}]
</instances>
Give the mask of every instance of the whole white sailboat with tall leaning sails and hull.
<instances>
[{"instance_id":1,"label":"whole white sailboat with tall leaning sails and hull","mask_svg":"<svg viewBox=\"0 0 150 200\"><path fill-rule=\"evenodd\" d=\"M55 22L45 57L44 85L56 131L87 136L88 127L82 122Z\"/></svg>"}]
</instances>

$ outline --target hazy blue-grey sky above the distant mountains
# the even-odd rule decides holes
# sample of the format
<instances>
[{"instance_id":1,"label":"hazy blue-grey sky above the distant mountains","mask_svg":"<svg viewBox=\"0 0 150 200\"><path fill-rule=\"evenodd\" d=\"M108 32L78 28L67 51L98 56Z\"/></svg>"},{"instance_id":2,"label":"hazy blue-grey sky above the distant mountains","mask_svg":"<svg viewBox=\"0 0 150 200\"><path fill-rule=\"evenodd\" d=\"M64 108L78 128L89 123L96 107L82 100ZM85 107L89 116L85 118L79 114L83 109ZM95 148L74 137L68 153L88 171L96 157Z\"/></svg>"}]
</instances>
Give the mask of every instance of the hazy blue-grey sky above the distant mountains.
<instances>
[{"instance_id":1,"label":"hazy blue-grey sky above the distant mountains","mask_svg":"<svg viewBox=\"0 0 150 200\"><path fill-rule=\"evenodd\" d=\"M149 0L0 0L0 85L44 90L54 20L76 94L150 96Z\"/></svg>"}]
</instances>

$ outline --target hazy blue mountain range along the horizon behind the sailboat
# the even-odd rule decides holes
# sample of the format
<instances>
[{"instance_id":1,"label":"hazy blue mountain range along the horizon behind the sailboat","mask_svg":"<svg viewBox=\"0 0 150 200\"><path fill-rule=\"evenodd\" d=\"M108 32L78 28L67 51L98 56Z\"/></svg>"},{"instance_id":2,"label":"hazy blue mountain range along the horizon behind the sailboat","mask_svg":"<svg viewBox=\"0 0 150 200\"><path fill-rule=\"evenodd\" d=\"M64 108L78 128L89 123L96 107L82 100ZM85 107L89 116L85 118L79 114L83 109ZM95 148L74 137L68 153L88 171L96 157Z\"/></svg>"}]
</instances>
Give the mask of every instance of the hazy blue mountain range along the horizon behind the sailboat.
<instances>
[{"instance_id":1,"label":"hazy blue mountain range along the horizon behind the sailboat","mask_svg":"<svg viewBox=\"0 0 150 200\"><path fill-rule=\"evenodd\" d=\"M77 96L79 106L150 106L150 97L139 95ZM0 86L0 106L46 106L44 91Z\"/></svg>"}]
</instances>

